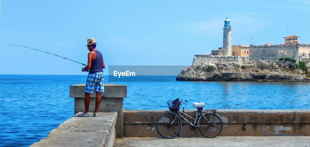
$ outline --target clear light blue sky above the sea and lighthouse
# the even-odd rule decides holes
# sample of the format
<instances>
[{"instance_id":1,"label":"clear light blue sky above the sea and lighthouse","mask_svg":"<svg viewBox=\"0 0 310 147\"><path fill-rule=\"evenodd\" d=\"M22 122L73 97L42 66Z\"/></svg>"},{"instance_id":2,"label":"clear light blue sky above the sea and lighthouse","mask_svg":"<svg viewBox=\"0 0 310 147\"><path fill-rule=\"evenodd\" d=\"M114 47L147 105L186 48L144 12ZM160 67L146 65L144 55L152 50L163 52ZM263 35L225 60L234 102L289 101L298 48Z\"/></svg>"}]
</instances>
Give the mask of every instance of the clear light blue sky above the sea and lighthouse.
<instances>
[{"instance_id":1,"label":"clear light blue sky above the sea and lighthouse","mask_svg":"<svg viewBox=\"0 0 310 147\"><path fill-rule=\"evenodd\" d=\"M82 75L86 39L109 65L191 65L195 54L222 47L224 20L232 45L310 43L310 1L39 1L0 2L0 74ZM108 73L105 70L105 73Z\"/></svg>"}]
</instances>

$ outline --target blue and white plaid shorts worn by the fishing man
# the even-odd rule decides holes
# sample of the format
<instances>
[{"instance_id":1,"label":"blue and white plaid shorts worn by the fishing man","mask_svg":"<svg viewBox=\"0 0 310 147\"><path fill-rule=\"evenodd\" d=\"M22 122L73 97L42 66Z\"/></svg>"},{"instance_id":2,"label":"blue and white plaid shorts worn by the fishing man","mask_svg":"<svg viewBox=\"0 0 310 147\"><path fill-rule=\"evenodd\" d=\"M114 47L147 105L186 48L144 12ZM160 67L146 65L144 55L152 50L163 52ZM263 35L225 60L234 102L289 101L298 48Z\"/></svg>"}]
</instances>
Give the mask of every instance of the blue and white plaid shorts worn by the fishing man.
<instances>
[{"instance_id":1,"label":"blue and white plaid shorts worn by the fishing man","mask_svg":"<svg viewBox=\"0 0 310 147\"><path fill-rule=\"evenodd\" d=\"M85 92L94 93L94 89L99 92L104 92L103 80L104 80L103 72L88 74L85 85Z\"/></svg>"}]
</instances>

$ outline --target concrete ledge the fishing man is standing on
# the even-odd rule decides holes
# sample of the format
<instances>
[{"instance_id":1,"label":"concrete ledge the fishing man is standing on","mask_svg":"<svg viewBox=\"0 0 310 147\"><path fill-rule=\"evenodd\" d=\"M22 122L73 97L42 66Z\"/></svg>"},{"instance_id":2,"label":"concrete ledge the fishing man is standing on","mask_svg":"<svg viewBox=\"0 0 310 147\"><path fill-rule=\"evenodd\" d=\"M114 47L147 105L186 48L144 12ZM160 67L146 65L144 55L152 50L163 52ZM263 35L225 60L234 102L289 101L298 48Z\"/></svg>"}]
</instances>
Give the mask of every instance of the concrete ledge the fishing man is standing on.
<instances>
[{"instance_id":1,"label":"concrete ledge the fishing man is standing on","mask_svg":"<svg viewBox=\"0 0 310 147\"><path fill-rule=\"evenodd\" d=\"M74 115L30 147L113 147L116 118L116 112L99 112L98 117Z\"/></svg>"}]
</instances>

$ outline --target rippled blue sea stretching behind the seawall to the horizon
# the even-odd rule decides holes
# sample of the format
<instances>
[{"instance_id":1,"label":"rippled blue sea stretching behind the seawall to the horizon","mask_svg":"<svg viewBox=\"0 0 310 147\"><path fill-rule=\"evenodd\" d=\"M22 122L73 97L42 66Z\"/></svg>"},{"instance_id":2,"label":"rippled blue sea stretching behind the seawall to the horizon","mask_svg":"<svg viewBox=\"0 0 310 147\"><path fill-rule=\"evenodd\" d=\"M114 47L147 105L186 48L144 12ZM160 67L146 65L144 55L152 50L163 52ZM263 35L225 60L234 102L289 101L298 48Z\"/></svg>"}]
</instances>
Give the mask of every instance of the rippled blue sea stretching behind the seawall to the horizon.
<instances>
[{"instance_id":1,"label":"rippled blue sea stretching behind the seawall to the horizon","mask_svg":"<svg viewBox=\"0 0 310 147\"><path fill-rule=\"evenodd\" d=\"M168 109L166 102L205 102L212 109L310 109L310 82L189 82L176 76L135 76L105 83L127 84L124 109ZM69 86L86 75L0 75L0 146L29 146L72 117ZM113 81L113 82L112 82Z\"/></svg>"}]
</instances>

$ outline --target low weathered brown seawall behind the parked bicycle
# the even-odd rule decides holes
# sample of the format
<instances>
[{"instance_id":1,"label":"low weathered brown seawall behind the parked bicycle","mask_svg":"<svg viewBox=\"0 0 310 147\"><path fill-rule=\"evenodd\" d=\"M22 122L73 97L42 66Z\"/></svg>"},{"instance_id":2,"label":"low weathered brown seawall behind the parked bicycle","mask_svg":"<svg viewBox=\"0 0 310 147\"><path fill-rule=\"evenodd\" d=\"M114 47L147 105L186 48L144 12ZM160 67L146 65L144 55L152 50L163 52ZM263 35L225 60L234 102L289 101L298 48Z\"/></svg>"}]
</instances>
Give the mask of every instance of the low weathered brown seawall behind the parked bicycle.
<instances>
[{"instance_id":1,"label":"low weathered brown seawall behind the parked bicycle","mask_svg":"<svg viewBox=\"0 0 310 147\"><path fill-rule=\"evenodd\" d=\"M218 110L223 120L219 136L309 136L310 110ZM124 110L124 137L159 136L157 119L167 110ZM185 110L194 116L194 110ZM186 118L188 119L188 118ZM182 121L180 137L202 136Z\"/></svg>"}]
</instances>

